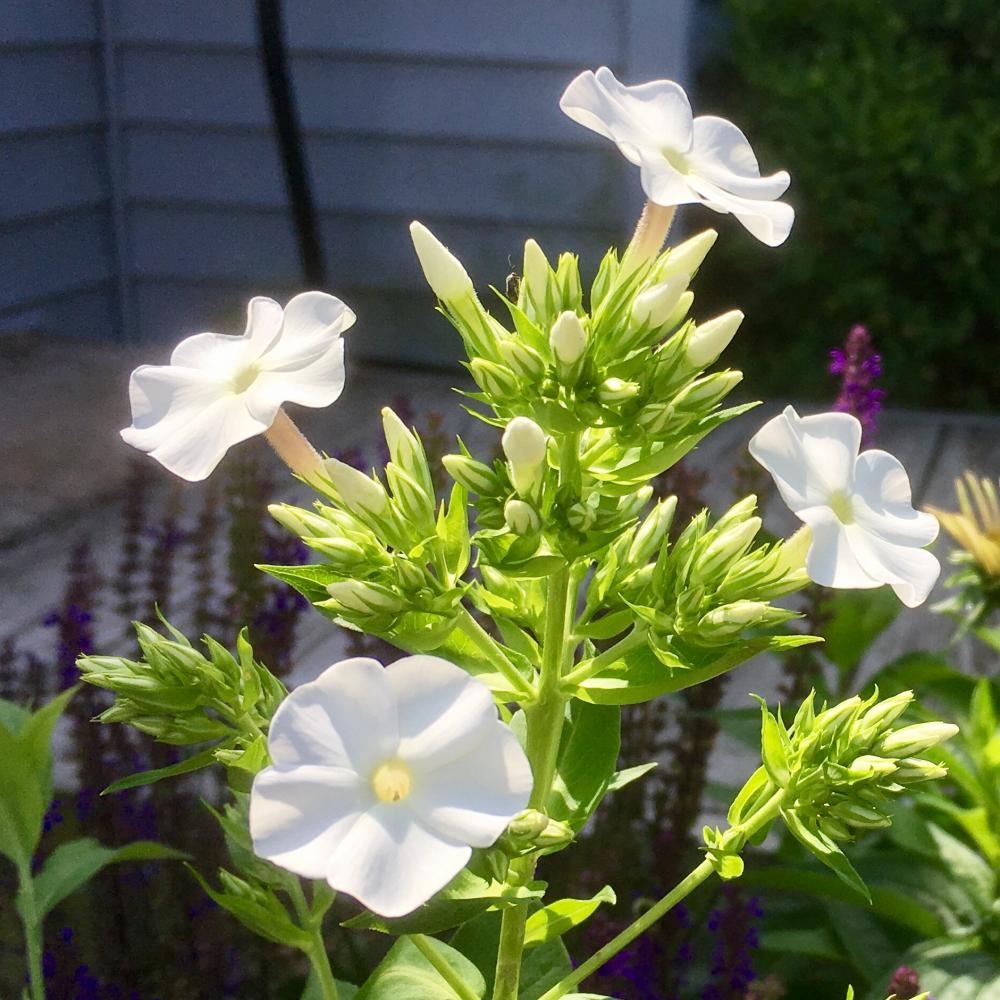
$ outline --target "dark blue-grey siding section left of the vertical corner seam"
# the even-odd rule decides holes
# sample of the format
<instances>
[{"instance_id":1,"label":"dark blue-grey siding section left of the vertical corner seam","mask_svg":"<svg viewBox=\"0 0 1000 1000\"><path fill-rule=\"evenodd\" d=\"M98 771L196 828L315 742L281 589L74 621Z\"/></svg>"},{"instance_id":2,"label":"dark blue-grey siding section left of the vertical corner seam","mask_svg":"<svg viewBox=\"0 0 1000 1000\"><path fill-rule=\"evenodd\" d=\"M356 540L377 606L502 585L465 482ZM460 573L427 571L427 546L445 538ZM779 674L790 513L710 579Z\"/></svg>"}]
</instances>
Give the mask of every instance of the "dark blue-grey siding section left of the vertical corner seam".
<instances>
[{"instance_id":1,"label":"dark blue-grey siding section left of the vertical corner seam","mask_svg":"<svg viewBox=\"0 0 1000 1000\"><path fill-rule=\"evenodd\" d=\"M15 0L0 31L0 327L116 336L95 10Z\"/></svg>"}]
</instances>

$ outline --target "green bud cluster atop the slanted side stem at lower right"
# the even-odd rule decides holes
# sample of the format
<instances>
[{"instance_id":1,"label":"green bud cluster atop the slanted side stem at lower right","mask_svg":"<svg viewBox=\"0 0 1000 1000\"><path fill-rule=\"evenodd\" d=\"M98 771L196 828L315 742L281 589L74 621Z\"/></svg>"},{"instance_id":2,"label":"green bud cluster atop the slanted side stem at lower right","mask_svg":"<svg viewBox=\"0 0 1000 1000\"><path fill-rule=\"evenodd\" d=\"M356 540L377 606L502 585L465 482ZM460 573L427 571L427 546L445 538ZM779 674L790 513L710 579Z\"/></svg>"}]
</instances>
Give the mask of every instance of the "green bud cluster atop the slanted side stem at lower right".
<instances>
[{"instance_id":1,"label":"green bud cluster atop the slanted side stem at lower right","mask_svg":"<svg viewBox=\"0 0 1000 1000\"><path fill-rule=\"evenodd\" d=\"M722 857L742 849L740 831L767 801L780 801L789 831L845 882L867 895L840 844L890 826L892 800L911 786L944 777L946 769L924 756L951 739L958 727L920 722L893 728L913 702L913 692L891 698L849 698L816 710L811 692L786 726L780 712L762 704L763 765L729 811L732 828L705 831L710 852Z\"/></svg>"}]
</instances>

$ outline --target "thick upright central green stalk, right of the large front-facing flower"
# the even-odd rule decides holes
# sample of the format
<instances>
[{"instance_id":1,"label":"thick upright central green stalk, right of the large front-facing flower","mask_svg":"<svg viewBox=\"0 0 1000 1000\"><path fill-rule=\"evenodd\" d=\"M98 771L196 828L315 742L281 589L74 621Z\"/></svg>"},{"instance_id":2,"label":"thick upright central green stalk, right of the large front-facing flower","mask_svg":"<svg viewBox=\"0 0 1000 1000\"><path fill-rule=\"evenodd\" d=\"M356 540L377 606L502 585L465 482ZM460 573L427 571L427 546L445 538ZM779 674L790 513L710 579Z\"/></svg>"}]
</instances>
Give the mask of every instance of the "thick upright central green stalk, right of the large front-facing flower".
<instances>
[{"instance_id":1,"label":"thick upright central green stalk, right of the large front-facing flower","mask_svg":"<svg viewBox=\"0 0 1000 1000\"><path fill-rule=\"evenodd\" d=\"M560 692L560 677L566 652L572 574L564 567L550 581L542 639L542 667L535 700L525 706L528 723L526 752L535 781L529 806L544 811L552 791L559 739L562 735L566 700ZM512 873L528 882L535 874L535 860L518 859L511 863ZM521 978L521 955L524 952L524 926L528 919L525 906L504 910L500 922L500 946L497 951L496 986L493 1000L517 1000Z\"/></svg>"}]
</instances>

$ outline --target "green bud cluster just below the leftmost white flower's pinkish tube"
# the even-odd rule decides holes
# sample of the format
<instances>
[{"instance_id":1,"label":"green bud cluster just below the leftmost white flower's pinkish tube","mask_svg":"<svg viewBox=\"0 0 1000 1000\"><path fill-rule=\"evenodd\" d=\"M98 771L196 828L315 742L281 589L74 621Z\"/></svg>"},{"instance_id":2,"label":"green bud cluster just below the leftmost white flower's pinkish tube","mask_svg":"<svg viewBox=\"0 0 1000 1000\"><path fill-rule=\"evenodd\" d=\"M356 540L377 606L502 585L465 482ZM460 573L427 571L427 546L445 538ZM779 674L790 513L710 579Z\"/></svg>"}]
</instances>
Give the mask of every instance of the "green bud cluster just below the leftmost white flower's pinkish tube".
<instances>
[{"instance_id":1,"label":"green bud cluster just below the leftmost white flower's pinkish tube","mask_svg":"<svg viewBox=\"0 0 1000 1000\"><path fill-rule=\"evenodd\" d=\"M407 615L449 627L464 593L456 581L469 560L466 491L456 487L449 504L439 507L420 438L388 407L382 423L388 488L375 473L327 459L311 485L328 502L316 501L311 511L269 507L326 561L265 568L349 627L391 636L406 630L400 619Z\"/></svg>"}]
</instances>

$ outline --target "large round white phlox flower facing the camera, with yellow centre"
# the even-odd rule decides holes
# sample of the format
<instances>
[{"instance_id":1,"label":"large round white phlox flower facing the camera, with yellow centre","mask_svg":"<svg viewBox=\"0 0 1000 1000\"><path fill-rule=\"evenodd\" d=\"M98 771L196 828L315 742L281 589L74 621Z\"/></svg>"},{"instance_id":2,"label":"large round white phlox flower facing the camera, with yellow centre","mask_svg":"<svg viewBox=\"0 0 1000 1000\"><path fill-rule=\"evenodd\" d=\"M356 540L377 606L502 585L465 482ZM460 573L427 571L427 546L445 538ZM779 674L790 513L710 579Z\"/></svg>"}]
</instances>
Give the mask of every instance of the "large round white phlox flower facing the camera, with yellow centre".
<instances>
[{"instance_id":1,"label":"large round white phlox flower facing the camera, with yellow centre","mask_svg":"<svg viewBox=\"0 0 1000 1000\"><path fill-rule=\"evenodd\" d=\"M258 855L385 917L426 902L528 803L489 689L436 656L342 660L271 722L250 796Z\"/></svg>"}]
</instances>

